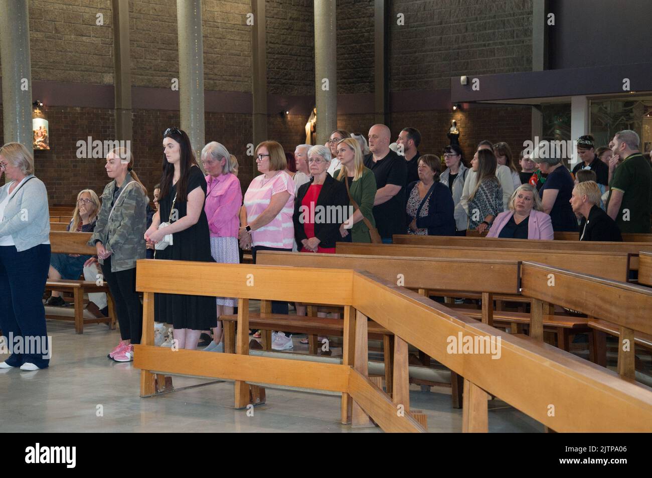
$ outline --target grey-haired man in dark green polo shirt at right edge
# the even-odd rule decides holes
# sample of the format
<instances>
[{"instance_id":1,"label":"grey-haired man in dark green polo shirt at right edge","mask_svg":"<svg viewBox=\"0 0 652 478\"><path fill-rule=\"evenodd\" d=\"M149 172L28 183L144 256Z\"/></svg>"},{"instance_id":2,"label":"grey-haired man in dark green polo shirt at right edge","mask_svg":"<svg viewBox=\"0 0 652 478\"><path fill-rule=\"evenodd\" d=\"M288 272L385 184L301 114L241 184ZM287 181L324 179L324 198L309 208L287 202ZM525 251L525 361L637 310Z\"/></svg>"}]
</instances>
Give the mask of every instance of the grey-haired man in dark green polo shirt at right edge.
<instances>
[{"instance_id":1,"label":"grey-haired man in dark green polo shirt at right edge","mask_svg":"<svg viewBox=\"0 0 652 478\"><path fill-rule=\"evenodd\" d=\"M649 233L652 213L652 166L638 150L640 139L632 130L615 134L609 147L625 158L609 183L607 214L621 232Z\"/></svg>"}]
</instances>

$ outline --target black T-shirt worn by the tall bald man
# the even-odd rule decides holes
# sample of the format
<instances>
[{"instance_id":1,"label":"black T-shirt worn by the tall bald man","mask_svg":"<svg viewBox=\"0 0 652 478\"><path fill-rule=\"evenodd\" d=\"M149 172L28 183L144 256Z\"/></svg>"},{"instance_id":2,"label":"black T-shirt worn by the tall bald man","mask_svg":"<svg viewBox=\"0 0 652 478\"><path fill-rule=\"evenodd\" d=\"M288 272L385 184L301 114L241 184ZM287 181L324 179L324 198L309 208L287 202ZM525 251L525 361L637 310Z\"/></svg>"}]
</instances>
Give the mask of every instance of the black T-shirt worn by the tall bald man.
<instances>
[{"instance_id":1,"label":"black T-shirt worn by the tall bald man","mask_svg":"<svg viewBox=\"0 0 652 478\"><path fill-rule=\"evenodd\" d=\"M388 184L400 186L401 189L389 201L374 206L374 218L378 233L383 238L391 238L394 234L405 232L405 184L408 177L406 160L391 149L387 156L374 162L370 153L364 157L364 166L374 172L378 189Z\"/></svg>"}]
</instances>

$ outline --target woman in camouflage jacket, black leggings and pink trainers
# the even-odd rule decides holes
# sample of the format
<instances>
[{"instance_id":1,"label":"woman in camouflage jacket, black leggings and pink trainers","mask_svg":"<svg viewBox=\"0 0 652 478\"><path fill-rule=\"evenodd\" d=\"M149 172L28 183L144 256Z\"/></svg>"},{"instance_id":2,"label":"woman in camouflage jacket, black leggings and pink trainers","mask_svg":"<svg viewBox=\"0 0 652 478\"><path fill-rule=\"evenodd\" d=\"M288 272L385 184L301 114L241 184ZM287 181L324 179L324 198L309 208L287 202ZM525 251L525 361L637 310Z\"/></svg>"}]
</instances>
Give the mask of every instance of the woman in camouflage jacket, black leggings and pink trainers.
<instances>
[{"instance_id":1,"label":"woman in camouflage jacket, black leggings and pink trainers","mask_svg":"<svg viewBox=\"0 0 652 478\"><path fill-rule=\"evenodd\" d=\"M104 168L112 181L102 193L102 208L88 242L97 250L102 275L115 302L122 340L109 357L118 362L134 359L134 344L140 344L143 328L136 260L145 258L143 235L149 198L133 166L134 158L126 148L113 149L106 156Z\"/></svg>"}]
</instances>

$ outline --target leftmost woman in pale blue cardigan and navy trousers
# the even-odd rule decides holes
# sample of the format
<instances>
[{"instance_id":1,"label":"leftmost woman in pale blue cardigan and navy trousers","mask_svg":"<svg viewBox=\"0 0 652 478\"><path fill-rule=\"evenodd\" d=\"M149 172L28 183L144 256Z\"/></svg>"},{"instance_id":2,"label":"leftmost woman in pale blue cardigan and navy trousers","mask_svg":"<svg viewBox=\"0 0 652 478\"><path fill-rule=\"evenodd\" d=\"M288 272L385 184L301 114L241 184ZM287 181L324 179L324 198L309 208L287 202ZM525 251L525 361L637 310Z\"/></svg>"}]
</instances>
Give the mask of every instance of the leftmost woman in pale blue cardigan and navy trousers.
<instances>
[{"instance_id":1,"label":"leftmost woman in pale blue cardigan and navy trousers","mask_svg":"<svg viewBox=\"0 0 652 478\"><path fill-rule=\"evenodd\" d=\"M0 327L10 357L0 368L50 365L43 291L50 268L48 192L34 158L20 143L0 148ZM10 181L10 182L9 182Z\"/></svg>"}]
</instances>

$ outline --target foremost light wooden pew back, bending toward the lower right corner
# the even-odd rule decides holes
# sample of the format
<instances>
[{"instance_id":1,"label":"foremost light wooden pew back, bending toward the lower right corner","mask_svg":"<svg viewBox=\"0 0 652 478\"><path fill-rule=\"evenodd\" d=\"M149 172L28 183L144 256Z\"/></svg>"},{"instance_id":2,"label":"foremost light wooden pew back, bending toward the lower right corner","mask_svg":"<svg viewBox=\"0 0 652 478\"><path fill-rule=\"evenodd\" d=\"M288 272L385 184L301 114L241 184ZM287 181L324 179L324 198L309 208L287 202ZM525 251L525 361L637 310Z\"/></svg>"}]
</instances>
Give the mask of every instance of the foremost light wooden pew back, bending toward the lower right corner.
<instances>
[{"instance_id":1,"label":"foremost light wooden pew back, bending toward the lower right corner","mask_svg":"<svg viewBox=\"0 0 652 478\"><path fill-rule=\"evenodd\" d=\"M236 408L251 403L248 381L329 390L342 393L342 423L365 426L372 419L386 431L423 432L424 416L409 408L412 344L464 376L464 431L487 431L487 393L559 432L652 431L652 389L537 340L505 335L363 271L140 260L136 289L144 293L143 338L134 357L141 396L154 395L155 375L161 380L165 374L235 380ZM157 292L239 297L236 353L154 347ZM316 297L344 306L342 365L248 355L249 299ZM367 318L396 338L391 396L367 376ZM456 340L460 348L452 350ZM469 341L477 347L464 353Z\"/></svg>"}]
</instances>

